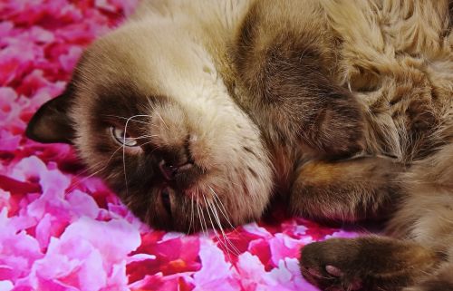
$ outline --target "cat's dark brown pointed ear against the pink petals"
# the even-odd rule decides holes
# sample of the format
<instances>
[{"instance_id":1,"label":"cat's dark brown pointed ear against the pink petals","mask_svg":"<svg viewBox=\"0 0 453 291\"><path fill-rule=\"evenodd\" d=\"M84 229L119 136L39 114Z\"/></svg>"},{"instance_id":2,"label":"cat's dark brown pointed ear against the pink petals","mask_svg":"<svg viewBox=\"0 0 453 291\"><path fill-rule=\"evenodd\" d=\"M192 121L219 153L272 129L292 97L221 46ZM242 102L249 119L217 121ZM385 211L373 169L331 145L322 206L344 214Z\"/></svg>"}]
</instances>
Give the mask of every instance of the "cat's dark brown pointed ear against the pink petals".
<instances>
[{"instance_id":1,"label":"cat's dark brown pointed ear against the pink petals","mask_svg":"<svg viewBox=\"0 0 453 291\"><path fill-rule=\"evenodd\" d=\"M34 141L43 143L63 142L72 143L74 129L69 118L72 91L66 89L60 96L45 102L34 113L28 123L25 135Z\"/></svg>"}]
</instances>

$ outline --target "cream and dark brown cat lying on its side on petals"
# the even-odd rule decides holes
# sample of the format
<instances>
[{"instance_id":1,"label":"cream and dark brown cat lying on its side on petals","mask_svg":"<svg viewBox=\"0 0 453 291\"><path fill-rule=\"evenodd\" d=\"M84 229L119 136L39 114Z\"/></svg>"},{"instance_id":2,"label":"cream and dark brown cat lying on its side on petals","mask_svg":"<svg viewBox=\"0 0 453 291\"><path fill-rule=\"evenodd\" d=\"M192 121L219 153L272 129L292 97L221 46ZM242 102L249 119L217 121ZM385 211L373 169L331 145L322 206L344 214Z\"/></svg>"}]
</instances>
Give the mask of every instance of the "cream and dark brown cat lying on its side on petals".
<instances>
[{"instance_id":1,"label":"cream and dark brown cat lying on its side on petals","mask_svg":"<svg viewBox=\"0 0 453 291\"><path fill-rule=\"evenodd\" d=\"M153 0L82 53L26 135L72 143L153 228L389 218L302 249L323 290L453 290L444 0ZM210 223L209 223L210 222Z\"/></svg>"}]
</instances>

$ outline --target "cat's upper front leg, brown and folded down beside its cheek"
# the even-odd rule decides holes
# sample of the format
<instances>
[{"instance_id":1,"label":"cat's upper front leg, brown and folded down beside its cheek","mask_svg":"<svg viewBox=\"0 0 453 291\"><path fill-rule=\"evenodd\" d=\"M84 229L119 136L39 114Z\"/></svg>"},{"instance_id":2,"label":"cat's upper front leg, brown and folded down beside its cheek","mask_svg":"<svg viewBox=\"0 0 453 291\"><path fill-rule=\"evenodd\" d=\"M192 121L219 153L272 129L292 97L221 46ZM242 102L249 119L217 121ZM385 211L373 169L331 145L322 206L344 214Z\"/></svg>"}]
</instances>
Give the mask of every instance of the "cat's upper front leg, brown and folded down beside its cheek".
<instances>
[{"instance_id":1,"label":"cat's upper front leg, brown and folded down beside its cheek","mask_svg":"<svg viewBox=\"0 0 453 291\"><path fill-rule=\"evenodd\" d=\"M364 106L333 77L326 24L316 1L255 2L232 53L237 88L251 96L238 102L266 139L302 144L316 157L351 157L365 145Z\"/></svg>"}]
</instances>

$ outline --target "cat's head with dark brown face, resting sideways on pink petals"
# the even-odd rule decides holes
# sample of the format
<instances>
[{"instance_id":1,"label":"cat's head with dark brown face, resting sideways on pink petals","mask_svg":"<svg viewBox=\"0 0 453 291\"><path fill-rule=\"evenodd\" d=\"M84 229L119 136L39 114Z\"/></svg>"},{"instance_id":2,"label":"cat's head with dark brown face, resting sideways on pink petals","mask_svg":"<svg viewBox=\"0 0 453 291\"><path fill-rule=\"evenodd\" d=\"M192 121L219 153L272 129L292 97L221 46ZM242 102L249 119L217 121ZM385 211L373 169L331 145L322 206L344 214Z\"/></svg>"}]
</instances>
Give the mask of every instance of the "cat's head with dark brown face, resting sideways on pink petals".
<instances>
[{"instance_id":1,"label":"cat's head with dark brown face, resting sideways on pink petals","mask_svg":"<svg viewBox=\"0 0 453 291\"><path fill-rule=\"evenodd\" d=\"M27 136L72 143L152 227L259 218L273 183L260 131L204 49L171 29L129 25L93 43Z\"/></svg>"}]
</instances>

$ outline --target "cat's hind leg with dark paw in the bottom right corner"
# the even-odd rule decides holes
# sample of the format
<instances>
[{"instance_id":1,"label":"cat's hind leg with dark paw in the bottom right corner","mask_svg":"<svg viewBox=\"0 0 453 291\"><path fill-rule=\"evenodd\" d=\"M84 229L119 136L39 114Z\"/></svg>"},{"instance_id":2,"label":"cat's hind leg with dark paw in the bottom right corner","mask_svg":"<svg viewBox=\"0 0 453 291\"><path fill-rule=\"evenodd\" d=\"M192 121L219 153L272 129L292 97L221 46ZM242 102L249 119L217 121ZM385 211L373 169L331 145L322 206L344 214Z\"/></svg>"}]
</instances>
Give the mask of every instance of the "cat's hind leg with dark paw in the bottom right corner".
<instances>
[{"instance_id":1,"label":"cat's hind leg with dark paw in the bottom right corner","mask_svg":"<svg viewBox=\"0 0 453 291\"><path fill-rule=\"evenodd\" d=\"M452 153L449 144L400 175L407 194L388 223L394 238L308 245L301 257L304 276L324 290L453 290Z\"/></svg>"}]
</instances>

